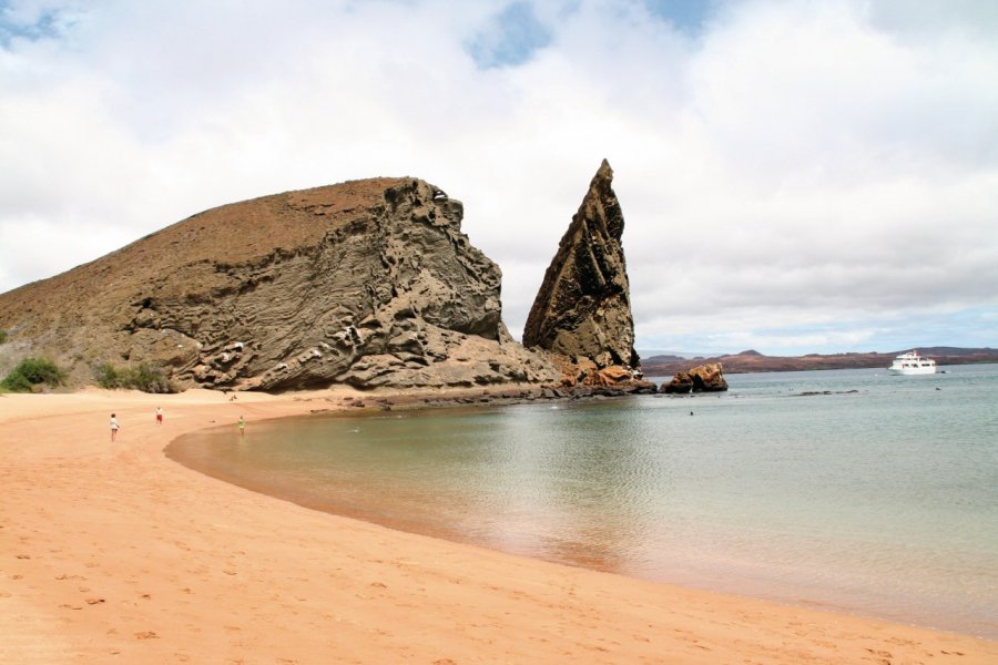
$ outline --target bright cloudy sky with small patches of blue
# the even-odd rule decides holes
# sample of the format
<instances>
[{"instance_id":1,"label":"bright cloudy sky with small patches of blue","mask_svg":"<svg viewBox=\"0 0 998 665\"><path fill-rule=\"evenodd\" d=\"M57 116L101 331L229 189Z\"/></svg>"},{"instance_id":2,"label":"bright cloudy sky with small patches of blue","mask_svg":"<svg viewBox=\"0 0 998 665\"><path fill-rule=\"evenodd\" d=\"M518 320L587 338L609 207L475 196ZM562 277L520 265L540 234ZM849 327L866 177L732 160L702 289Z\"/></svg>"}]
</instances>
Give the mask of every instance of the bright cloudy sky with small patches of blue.
<instances>
[{"instance_id":1,"label":"bright cloudy sky with small patches of blue","mask_svg":"<svg viewBox=\"0 0 998 665\"><path fill-rule=\"evenodd\" d=\"M639 350L998 347L998 2L0 0L0 293L414 176L520 338L603 158Z\"/></svg>"}]
</instances>

